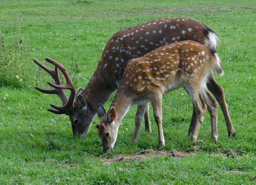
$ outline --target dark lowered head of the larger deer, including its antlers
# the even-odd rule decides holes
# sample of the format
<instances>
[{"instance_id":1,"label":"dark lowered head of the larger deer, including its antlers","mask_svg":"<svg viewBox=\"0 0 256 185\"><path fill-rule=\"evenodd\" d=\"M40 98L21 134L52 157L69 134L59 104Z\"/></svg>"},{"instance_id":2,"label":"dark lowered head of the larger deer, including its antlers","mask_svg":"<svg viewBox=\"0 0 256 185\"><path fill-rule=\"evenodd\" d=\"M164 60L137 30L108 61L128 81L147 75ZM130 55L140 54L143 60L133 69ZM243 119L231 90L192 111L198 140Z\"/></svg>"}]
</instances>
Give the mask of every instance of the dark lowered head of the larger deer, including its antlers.
<instances>
[{"instance_id":1,"label":"dark lowered head of the larger deer, including its antlers","mask_svg":"<svg viewBox=\"0 0 256 185\"><path fill-rule=\"evenodd\" d=\"M46 61L53 64L55 66L54 70L51 70L47 65L40 62L37 59L33 60L37 65L39 65L42 69L44 69L47 73L49 73L55 84L51 82L47 82L50 86L52 86L54 89L42 89L39 87L35 87L35 89L39 90L40 92L43 92L45 94L55 94L58 95L62 106L56 106L51 104L51 106L54 109L48 109L48 111L56 113L56 114L66 114L70 117L70 122L72 125L73 135L81 134L82 136L85 136L90 127L91 123L93 121L94 116L88 116L84 117L84 115L89 112L90 108L87 105L86 100L84 100L84 97L81 95L81 92L83 92L83 89L80 88L76 93L74 84L70 78L69 73L65 69L65 67L57 62L56 60L53 60L51 58L46 58ZM66 78L66 85L61 85L61 80L58 75L58 69L62 72L63 76ZM70 96L67 98L65 92L63 89L69 89ZM75 101L74 101L75 100ZM88 113L90 114L90 113ZM94 114L95 115L95 114ZM89 120L88 120L89 118ZM90 120L91 118L91 120ZM89 124L88 124L89 122Z\"/></svg>"}]
</instances>

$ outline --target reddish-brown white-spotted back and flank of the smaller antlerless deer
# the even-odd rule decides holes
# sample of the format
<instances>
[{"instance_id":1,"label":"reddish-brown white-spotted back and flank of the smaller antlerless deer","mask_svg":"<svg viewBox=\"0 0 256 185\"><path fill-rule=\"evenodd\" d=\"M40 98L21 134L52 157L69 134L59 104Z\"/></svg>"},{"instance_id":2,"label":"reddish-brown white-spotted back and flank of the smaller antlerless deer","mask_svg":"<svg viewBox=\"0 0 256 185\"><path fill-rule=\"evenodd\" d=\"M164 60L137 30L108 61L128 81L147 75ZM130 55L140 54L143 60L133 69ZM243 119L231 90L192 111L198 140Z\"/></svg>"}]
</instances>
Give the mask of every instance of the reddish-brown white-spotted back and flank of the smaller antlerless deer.
<instances>
[{"instance_id":1,"label":"reddish-brown white-spotted back and flank of the smaller antlerless deer","mask_svg":"<svg viewBox=\"0 0 256 185\"><path fill-rule=\"evenodd\" d=\"M184 86L189 80L199 83L215 66L220 67L220 60L214 50L195 41L181 41L132 59L119 88L130 91L135 97L159 88L164 94Z\"/></svg>"}]
</instances>

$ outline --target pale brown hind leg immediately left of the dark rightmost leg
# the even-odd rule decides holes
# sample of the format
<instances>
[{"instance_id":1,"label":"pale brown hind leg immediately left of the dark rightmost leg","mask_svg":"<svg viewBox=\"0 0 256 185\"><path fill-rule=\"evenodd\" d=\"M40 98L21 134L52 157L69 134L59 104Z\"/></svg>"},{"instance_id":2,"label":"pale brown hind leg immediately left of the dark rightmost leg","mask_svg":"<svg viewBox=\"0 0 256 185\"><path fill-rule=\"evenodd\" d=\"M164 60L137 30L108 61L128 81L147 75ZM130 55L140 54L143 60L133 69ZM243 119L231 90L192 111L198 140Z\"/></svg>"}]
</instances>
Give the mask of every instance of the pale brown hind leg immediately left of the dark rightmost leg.
<instances>
[{"instance_id":1,"label":"pale brown hind leg immediately left of the dark rightmost leg","mask_svg":"<svg viewBox=\"0 0 256 185\"><path fill-rule=\"evenodd\" d=\"M211 139L214 141L218 140L218 128L217 128L217 118L218 118L218 103L210 95L208 89L202 91L204 102L207 106L207 110L210 114L211 119Z\"/></svg>"}]
</instances>

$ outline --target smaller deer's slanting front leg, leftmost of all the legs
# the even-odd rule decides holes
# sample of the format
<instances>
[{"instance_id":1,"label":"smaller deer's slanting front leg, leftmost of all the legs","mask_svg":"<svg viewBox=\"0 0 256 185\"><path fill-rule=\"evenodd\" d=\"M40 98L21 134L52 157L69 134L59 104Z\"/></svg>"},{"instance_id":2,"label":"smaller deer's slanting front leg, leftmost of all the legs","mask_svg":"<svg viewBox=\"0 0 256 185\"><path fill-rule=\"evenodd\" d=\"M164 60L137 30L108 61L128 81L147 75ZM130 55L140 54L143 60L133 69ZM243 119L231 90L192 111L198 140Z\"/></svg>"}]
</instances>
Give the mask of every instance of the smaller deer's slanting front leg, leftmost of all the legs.
<instances>
[{"instance_id":1,"label":"smaller deer's slanting front leg, leftmost of all the legs","mask_svg":"<svg viewBox=\"0 0 256 185\"><path fill-rule=\"evenodd\" d=\"M131 140L132 143L136 143L139 137L140 125L143 119L143 115L145 114L146 109L148 108L148 104L145 105L138 105L137 112L135 116L135 129L133 138Z\"/></svg>"}]
</instances>

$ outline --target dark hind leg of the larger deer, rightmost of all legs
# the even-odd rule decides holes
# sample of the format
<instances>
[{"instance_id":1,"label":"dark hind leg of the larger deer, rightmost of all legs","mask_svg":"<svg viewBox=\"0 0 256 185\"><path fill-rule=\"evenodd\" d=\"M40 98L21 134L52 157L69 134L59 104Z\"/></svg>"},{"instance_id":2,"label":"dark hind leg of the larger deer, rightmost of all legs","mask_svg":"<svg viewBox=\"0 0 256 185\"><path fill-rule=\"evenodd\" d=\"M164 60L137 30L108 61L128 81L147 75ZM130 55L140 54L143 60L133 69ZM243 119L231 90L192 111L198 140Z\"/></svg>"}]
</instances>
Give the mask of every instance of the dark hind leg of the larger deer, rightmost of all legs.
<instances>
[{"instance_id":1,"label":"dark hind leg of the larger deer, rightmost of all legs","mask_svg":"<svg viewBox=\"0 0 256 185\"><path fill-rule=\"evenodd\" d=\"M209 80L206 85L221 106L222 112L224 114L226 126L227 126L228 136L234 137L236 135L236 132L234 131L234 128L229 116L228 107L225 100L224 89L217 83L212 72L209 76Z\"/></svg>"}]
</instances>

